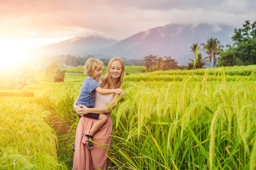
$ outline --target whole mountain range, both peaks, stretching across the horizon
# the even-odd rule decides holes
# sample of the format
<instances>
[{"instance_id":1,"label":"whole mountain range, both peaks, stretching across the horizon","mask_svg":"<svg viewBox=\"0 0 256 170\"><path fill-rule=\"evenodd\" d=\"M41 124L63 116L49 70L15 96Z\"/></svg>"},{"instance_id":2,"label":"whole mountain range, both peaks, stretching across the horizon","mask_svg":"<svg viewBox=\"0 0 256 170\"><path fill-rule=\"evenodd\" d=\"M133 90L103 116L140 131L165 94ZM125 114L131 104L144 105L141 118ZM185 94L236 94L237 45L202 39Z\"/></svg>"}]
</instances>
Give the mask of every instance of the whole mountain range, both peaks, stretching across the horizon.
<instances>
[{"instance_id":1,"label":"whole mountain range, both peaks, stretching across the horizon","mask_svg":"<svg viewBox=\"0 0 256 170\"><path fill-rule=\"evenodd\" d=\"M193 43L206 43L210 37L220 40L222 45L232 41L234 28L229 25L183 25L168 24L139 32L124 40L116 41L100 36L76 37L36 48L40 53L48 55L71 54L85 57L90 54L96 58L143 59L150 54L154 56L171 56L179 65L187 65L193 59L190 46ZM199 52L202 57L207 55Z\"/></svg>"}]
</instances>

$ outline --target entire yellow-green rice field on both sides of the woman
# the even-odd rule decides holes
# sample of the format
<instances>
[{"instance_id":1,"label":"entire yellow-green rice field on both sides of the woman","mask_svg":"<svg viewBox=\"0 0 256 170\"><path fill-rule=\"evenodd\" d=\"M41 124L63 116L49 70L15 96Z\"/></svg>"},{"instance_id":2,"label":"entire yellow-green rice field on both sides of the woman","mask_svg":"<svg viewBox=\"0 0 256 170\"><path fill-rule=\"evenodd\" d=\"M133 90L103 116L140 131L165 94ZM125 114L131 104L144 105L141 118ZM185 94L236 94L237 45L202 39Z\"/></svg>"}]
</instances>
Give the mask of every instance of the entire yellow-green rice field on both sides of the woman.
<instances>
[{"instance_id":1,"label":"entire yellow-green rice field on both sides of the woman","mask_svg":"<svg viewBox=\"0 0 256 170\"><path fill-rule=\"evenodd\" d=\"M255 70L125 75L109 169L255 169ZM66 73L62 83L0 91L0 169L72 169L72 105L84 78Z\"/></svg>"}]
</instances>

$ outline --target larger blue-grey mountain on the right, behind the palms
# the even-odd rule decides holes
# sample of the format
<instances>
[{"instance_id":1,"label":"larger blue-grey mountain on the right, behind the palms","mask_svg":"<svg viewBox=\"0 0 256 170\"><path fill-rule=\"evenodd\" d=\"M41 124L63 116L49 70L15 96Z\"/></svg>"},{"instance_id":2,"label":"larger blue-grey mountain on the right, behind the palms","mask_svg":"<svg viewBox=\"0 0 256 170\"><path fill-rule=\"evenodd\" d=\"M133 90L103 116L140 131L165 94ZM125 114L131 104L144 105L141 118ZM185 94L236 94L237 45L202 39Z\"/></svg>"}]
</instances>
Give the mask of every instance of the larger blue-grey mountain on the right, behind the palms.
<instances>
[{"instance_id":1,"label":"larger blue-grey mountain on the right, behind the palms","mask_svg":"<svg viewBox=\"0 0 256 170\"><path fill-rule=\"evenodd\" d=\"M203 42L206 43L208 38L213 37L220 40L221 44L225 46L231 42L233 34L234 28L228 25L168 24L139 32L93 54L108 54L127 59L143 59L150 54L159 57L171 56L179 62L179 65L187 65L189 58L195 57L192 52L189 52L193 43L199 42L200 45ZM204 52L199 53L206 57Z\"/></svg>"}]
</instances>

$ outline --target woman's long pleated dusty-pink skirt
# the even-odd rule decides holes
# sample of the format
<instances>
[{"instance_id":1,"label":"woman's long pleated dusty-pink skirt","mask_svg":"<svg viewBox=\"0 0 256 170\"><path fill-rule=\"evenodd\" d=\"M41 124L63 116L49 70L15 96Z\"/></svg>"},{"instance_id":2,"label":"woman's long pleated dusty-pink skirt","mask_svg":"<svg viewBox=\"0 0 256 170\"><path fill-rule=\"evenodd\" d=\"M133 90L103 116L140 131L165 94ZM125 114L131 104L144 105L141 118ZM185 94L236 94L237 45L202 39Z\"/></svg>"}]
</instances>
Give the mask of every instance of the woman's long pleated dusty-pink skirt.
<instances>
[{"instance_id":1,"label":"woman's long pleated dusty-pink skirt","mask_svg":"<svg viewBox=\"0 0 256 170\"><path fill-rule=\"evenodd\" d=\"M93 135L93 141L102 146L110 148L112 140L112 117L110 113L106 113L108 121ZM110 151L104 147L93 143L93 150L89 150L85 144L87 137L82 138L82 134L88 134L96 119L82 116L76 130L75 155L73 162L73 170L77 169L107 169Z\"/></svg>"}]
</instances>

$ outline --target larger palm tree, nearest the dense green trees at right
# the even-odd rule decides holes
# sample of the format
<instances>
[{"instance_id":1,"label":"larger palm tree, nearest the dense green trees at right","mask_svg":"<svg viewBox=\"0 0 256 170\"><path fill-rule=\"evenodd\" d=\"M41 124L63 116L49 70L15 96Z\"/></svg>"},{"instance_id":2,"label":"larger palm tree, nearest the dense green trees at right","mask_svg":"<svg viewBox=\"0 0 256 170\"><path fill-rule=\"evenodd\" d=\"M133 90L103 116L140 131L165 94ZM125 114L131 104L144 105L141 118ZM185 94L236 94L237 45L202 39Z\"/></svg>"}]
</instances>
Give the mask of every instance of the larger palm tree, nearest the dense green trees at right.
<instances>
[{"instance_id":1,"label":"larger palm tree, nearest the dense green trees at right","mask_svg":"<svg viewBox=\"0 0 256 170\"><path fill-rule=\"evenodd\" d=\"M203 45L203 50L205 53L208 54L207 57L203 58L202 61L204 61L205 59L209 59L209 67L210 67L210 63L212 62L212 58L213 58L213 67L215 67L217 59L216 59L216 55L219 54L222 50L222 45L220 44L220 41L218 41L217 39L207 39L207 44L202 43L201 45Z\"/></svg>"}]
</instances>

